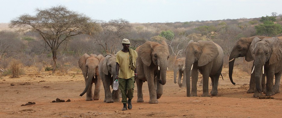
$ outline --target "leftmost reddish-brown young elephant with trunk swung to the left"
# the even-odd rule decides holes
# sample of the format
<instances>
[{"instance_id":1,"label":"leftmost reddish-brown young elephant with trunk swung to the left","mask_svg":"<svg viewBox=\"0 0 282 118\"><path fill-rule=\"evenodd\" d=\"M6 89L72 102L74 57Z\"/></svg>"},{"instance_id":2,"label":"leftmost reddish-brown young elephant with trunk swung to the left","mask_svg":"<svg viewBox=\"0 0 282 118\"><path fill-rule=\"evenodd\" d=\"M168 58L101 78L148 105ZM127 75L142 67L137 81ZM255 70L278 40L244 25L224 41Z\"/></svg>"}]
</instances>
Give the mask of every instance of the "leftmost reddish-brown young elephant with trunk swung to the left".
<instances>
[{"instance_id":1,"label":"leftmost reddish-brown young elephant with trunk swung to the left","mask_svg":"<svg viewBox=\"0 0 282 118\"><path fill-rule=\"evenodd\" d=\"M86 92L86 101L99 100L100 97L100 87L101 78L99 76L98 65L100 60L102 60L103 55L95 55L86 53L82 55L78 60L78 66L82 70L82 74L85 80L85 89L80 94L83 96ZM92 84L95 83L94 95L92 97Z\"/></svg>"}]
</instances>

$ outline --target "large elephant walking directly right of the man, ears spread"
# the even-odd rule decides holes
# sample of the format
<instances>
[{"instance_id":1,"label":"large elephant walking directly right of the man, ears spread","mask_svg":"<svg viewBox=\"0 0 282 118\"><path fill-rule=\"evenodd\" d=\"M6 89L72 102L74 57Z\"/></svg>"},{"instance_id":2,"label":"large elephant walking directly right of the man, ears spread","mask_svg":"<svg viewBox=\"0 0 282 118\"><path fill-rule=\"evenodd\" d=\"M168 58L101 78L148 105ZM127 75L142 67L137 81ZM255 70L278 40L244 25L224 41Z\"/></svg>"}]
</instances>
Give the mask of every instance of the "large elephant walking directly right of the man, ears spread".
<instances>
[{"instance_id":1,"label":"large elephant walking directly right of the man, ears spread","mask_svg":"<svg viewBox=\"0 0 282 118\"><path fill-rule=\"evenodd\" d=\"M144 102L142 85L147 81L150 94L149 103L156 104L163 94L163 85L166 83L168 44L165 41L161 43L147 41L137 47L136 52L138 54L136 59L137 102Z\"/></svg>"}]
</instances>

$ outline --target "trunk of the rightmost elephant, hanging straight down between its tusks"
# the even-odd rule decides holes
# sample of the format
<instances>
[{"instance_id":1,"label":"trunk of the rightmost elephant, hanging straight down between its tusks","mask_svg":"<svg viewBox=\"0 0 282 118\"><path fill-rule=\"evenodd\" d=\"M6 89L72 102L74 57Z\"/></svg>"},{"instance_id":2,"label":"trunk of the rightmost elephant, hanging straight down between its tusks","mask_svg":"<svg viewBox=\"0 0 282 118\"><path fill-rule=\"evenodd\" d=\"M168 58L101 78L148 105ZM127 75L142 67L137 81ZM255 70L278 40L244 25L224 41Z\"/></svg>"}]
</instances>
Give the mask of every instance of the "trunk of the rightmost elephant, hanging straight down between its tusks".
<instances>
[{"instance_id":1,"label":"trunk of the rightmost elephant, hanging straight down between its tusks","mask_svg":"<svg viewBox=\"0 0 282 118\"><path fill-rule=\"evenodd\" d=\"M259 57L256 57L259 58ZM258 60L255 60L254 62L254 72L255 72L255 87L258 90L258 93L262 92L262 66L264 64L262 62L258 62Z\"/></svg>"}]
</instances>

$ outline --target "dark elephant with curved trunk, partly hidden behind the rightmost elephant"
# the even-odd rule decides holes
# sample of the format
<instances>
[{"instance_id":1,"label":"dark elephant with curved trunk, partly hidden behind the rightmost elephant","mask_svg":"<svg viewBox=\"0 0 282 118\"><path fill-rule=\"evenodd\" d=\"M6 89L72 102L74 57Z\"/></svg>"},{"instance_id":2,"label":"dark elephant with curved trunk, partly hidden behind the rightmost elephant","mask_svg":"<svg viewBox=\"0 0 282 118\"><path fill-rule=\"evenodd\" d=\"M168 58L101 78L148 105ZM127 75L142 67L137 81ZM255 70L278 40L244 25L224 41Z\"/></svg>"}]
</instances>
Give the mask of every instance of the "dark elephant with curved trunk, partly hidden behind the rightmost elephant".
<instances>
[{"instance_id":1,"label":"dark elephant with curved trunk, partly hidden behind the rightmost elephant","mask_svg":"<svg viewBox=\"0 0 282 118\"><path fill-rule=\"evenodd\" d=\"M271 38L271 37L265 37L265 36L253 36L253 37L249 37L249 38L240 38L236 44L234 45L230 56L229 56L229 78L232 84L236 84L233 82L233 78L232 78L232 73L233 73L233 67L234 67L234 62L235 62L235 58L238 57L245 57L246 61L252 61L252 55L250 52L250 45L252 43L252 40L258 37L260 39L264 39L264 38ZM252 65L253 68L254 65ZM262 89L265 90L265 75L263 75L262 77ZM247 90L247 93L254 93L255 92L255 75L254 73L251 74L251 78L250 78L250 87Z\"/></svg>"}]
</instances>

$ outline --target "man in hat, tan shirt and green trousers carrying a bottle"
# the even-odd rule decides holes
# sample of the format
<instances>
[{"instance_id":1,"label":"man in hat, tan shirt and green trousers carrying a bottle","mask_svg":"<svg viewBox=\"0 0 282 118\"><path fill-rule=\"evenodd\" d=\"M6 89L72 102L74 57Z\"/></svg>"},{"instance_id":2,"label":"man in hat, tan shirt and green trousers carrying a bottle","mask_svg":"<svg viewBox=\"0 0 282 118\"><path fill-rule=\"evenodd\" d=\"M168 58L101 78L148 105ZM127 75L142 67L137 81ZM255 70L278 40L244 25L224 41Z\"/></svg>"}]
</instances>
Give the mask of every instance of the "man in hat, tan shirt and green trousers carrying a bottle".
<instances>
[{"instance_id":1,"label":"man in hat, tan shirt and green trousers carrying a bottle","mask_svg":"<svg viewBox=\"0 0 282 118\"><path fill-rule=\"evenodd\" d=\"M131 100L133 98L134 77L136 73L137 52L129 49L131 44L128 39L122 40L123 49L116 54L116 73L115 79L119 80L119 89L121 89L121 102L123 103L122 111L132 109ZM127 101L128 98L128 101ZM128 107L126 104L128 103Z\"/></svg>"}]
</instances>

